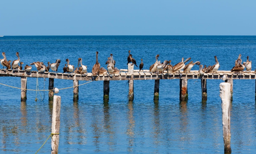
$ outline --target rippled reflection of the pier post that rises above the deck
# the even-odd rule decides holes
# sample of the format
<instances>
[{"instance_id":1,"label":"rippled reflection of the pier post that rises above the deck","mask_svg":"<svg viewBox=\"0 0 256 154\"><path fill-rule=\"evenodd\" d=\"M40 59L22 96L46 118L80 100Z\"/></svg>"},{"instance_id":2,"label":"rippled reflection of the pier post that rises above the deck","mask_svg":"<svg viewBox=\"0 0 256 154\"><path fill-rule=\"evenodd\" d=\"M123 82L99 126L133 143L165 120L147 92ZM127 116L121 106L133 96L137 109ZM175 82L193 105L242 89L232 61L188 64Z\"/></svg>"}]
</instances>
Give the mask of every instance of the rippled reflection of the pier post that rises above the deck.
<instances>
[{"instance_id":1,"label":"rippled reflection of the pier post that rises above the deck","mask_svg":"<svg viewBox=\"0 0 256 154\"><path fill-rule=\"evenodd\" d=\"M128 125L127 125L127 131L126 134L128 135L127 141L127 151L132 152L133 151L133 145L134 145L134 127L135 127L135 121L133 117L133 104L132 101L128 102L128 113L127 113L127 119L128 119Z\"/></svg>"}]
</instances>

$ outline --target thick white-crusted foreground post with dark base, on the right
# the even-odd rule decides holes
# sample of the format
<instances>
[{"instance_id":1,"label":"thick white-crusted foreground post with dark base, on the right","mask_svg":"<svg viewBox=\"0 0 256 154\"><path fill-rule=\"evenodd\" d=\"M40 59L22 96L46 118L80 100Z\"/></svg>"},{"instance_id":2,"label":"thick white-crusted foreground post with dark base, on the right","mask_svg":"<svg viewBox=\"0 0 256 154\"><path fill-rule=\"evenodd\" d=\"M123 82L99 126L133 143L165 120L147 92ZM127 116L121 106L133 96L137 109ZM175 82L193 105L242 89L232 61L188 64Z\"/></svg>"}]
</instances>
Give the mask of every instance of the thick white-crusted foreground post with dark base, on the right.
<instances>
[{"instance_id":1,"label":"thick white-crusted foreground post with dark base, on the right","mask_svg":"<svg viewBox=\"0 0 256 154\"><path fill-rule=\"evenodd\" d=\"M222 108L222 129L224 140L224 153L231 153L230 140L230 99L231 99L231 84L220 83L220 98Z\"/></svg>"}]
</instances>

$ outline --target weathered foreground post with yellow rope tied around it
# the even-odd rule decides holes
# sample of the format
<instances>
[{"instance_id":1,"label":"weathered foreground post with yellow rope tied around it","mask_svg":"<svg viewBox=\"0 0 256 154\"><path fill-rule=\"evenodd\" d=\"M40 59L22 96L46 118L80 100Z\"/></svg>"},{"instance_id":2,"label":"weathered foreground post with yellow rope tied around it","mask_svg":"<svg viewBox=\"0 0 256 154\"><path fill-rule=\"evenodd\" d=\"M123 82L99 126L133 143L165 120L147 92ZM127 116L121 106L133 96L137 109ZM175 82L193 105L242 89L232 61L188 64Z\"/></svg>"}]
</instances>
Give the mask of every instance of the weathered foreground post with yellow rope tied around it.
<instances>
[{"instance_id":1,"label":"weathered foreground post with yellow rope tied around it","mask_svg":"<svg viewBox=\"0 0 256 154\"><path fill-rule=\"evenodd\" d=\"M53 97L53 110L51 122L51 154L57 154L59 148L60 106L61 97L55 95Z\"/></svg>"}]
</instances>

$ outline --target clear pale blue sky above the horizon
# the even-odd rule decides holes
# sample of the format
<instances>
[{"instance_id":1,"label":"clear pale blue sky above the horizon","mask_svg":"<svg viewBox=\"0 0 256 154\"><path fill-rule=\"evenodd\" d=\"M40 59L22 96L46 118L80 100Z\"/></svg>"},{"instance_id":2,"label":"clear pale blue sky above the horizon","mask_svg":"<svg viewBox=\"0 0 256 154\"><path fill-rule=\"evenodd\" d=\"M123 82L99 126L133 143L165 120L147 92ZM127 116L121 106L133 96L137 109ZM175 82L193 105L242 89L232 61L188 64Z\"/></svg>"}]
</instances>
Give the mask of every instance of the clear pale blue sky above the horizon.
<instances>
[{"instance_id":1,"label":"clear pale blue sky above the horizon","mask_svg":"<svg viewBox=\"0 0 256 154\"><path fill-rule=\"evenodd\" d=\"M256 35L255 0L1 0L0 35Z\"/></svg>"}]
</instances>

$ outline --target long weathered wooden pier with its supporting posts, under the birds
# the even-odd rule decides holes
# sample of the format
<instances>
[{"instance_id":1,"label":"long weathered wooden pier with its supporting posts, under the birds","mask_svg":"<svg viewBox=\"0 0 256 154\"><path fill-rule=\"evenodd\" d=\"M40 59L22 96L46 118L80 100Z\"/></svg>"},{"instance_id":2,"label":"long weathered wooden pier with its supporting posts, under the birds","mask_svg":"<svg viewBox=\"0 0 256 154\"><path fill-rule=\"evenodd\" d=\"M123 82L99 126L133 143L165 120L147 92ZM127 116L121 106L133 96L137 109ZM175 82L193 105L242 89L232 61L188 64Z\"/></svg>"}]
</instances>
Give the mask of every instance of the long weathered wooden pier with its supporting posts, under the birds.
<instances>
[{"instance_id":1,"label":"long weathered wooden pier with its supporting posts, under the birds","mask_svg":"<svg viewBox=\"0 0 256 154\"><path fill-rule=\"evenodd\" d=\"M180 71L179 73L151 73L149 70L139 71L134 70L132 64L128 64L128 69L121 69L122 72L118 74L105 74L98 76L93 76L92 73L86 74L75 74L75 73L54 73L54 72L37 72L37 71L24 71L24 70L12 70L12 69L0 69L0 76L15 76L21 77L21 101L26 100L26 82L28 77L32 78L49 78L49 90L54 88L54 79L64 79L64 80L73 80L73 101L78 101L78 81L104 81L104 95L103 99L109 99L109 81L117 80L129 80L129 101L132 101L134 98L133 93L133 83L134 80L155 80L154 86L154 100L159 99L159 81L162 79L179 79L180 80L180 100L184 101L188 99L187 94L187 80L189 79L201 79L201 90L202 90L202 100L207 100L207 80L211 79L220 79L231 84L231 101L233 93L233 80L236 79L254 79L256 80L256 74L254 71L247 72L230 72L230 71L217 71L216 73L205 73L203 76L200 76L198 71L191 71L190 73L184 73ZM256 89L256 88L255 88ZM256 96L255 96L256 97ZM53 92L49 91L49 100L53 99Z\"/></svg>"}]
</instances>

